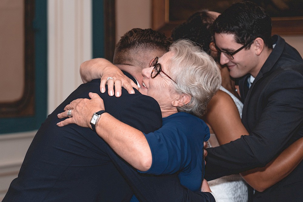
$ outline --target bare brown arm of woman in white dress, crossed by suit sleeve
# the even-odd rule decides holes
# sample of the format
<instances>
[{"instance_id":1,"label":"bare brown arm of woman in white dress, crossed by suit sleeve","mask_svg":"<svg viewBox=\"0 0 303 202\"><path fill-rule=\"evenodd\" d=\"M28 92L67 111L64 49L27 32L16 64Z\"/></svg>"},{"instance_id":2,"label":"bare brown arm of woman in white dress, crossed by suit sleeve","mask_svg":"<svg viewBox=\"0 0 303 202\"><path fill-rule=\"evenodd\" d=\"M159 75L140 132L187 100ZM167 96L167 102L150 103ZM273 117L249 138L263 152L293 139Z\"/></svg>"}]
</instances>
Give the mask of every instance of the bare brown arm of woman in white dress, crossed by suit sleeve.
<instances>
[{"instance_id":1,"label":"bare brown arm of woman in white dress, crossed by suit sleeve","mask_svg":"<svg viewBox=\"0 0 303 202\"><path fill-rule=\"evenodd\" d=\"M209 102L205 120L212 127L220 145L248 134L234 101L223 91L218 91ZM302 161L303 140L301 139L290 145L265 167L243 172L241 176L258 191L263 191L276 184Z\"/></svg>"}]
</instances>

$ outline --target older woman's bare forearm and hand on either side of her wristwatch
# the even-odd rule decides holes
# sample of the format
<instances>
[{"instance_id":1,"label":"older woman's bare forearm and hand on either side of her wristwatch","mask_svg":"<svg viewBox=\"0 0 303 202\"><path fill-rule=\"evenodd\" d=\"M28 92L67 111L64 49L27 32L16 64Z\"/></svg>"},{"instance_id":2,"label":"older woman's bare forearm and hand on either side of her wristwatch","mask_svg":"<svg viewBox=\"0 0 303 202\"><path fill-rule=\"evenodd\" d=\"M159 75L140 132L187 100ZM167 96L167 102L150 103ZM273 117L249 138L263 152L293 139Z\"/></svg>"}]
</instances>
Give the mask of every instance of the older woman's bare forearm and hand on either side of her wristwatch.
<instances>
[{"instance_id":1,"label":"older woman's bare forearm and hand on either side of her wristwatch","mask_svg":"<svg viewBox=\"0 0 303 202\"><path fill-rule=\"evenodd\" d=\"M105 110L102 98L96 93L89 93L92 99L72 101L64 110L72 109L72 118L59 122L58 126L77 124L81 127L91 127L90 119L97 111ZM58 114L58 118L67 117L67 111ZM149 144L144 134L108 113L101 114L96 126L97 134L125 161L140 171L151 167L152 156ZM121 135L122 134L122 135Z\"/></svg>"}]
</instances>

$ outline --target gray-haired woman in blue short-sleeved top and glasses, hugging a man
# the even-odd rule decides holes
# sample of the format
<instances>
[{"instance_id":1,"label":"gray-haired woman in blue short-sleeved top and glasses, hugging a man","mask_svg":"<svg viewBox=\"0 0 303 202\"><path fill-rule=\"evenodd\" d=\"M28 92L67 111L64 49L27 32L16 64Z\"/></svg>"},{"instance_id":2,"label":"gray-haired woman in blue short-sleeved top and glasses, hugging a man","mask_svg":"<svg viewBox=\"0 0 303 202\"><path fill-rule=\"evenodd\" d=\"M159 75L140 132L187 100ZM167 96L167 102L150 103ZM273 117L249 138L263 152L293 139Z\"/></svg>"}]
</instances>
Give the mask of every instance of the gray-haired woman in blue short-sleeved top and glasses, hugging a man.
<instances>
[{"instance_id":1,"label":"gray-haired woman in blue short-sleeved top and glasses, hugging a man","mask_svg":"<svg viewBox=\"0 0 303 202\"><path fill-rule=\"evenodd\" d=\"M219 67L191 41L179 40L162 57L151 61L142 74L143 86L139 91L159 103L162 127L143 134L110 114L102 113L95 131L139 172L158 175L180 171L178 176L182 185L200 190L203 141L209 138L209 129L198 117L205 113L208 102L221 85ZM106 79L104 77L105 73L102 78ZM92 99L77 99L68 104L66 111L58 117L67 117L68 111L72 117L57 125L75 123L91 127L94 112L106 112L106 106L98 94L90 93L89 96Z\"/></svg>"}]
</instances>

